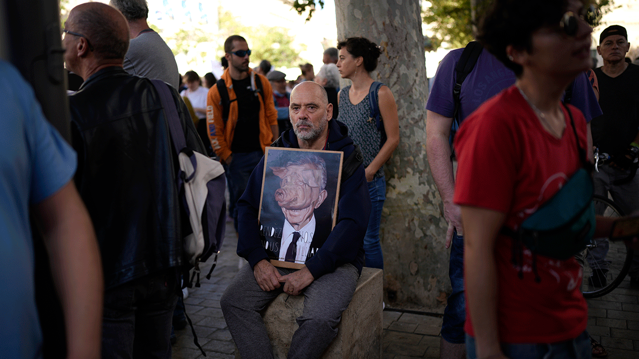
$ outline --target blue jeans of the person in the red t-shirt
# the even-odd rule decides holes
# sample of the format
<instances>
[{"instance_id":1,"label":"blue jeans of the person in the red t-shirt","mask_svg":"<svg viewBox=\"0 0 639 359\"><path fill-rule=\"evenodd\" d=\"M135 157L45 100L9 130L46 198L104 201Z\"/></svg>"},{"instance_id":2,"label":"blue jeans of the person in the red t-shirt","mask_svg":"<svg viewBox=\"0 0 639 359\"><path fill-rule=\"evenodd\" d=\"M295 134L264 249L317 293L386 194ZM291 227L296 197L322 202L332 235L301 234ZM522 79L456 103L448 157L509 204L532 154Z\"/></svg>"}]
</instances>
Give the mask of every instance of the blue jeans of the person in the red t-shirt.
<instances>
[{"instance_id":1,"label":"blue jeans of the person in the red t-shirt","mask_svg":"<svg viewBox=\"0 0 639 359\"><path fill-rule=\"evenodd\" d=\"M564 342L550 344L502 343L504 355L512 359L590 359L592 348L588 332L583 332L578 337ZM466 357L475 359L475 338L466 335Z\"/></svg>"}]
</instances>

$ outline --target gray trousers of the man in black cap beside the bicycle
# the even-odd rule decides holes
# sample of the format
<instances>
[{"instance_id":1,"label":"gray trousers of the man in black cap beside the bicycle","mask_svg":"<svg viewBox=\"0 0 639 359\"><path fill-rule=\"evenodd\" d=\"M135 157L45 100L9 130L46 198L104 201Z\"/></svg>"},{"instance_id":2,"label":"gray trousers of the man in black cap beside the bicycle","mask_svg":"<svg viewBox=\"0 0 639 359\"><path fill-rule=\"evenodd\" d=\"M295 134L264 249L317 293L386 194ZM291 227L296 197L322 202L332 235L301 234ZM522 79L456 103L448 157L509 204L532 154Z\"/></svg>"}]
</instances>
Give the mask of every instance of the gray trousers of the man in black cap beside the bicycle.
<instances>
[{"instance_id":1,"label":"gray trousers of the man in black cap beside the bicycle","mask_svg":"<svg viewBox=\"0 0 639 359\"><path fill-rule=\"evenodd\" d=\"M627 178L629 172L622 172L617 169L613 169L609 165L599 166L599 172L593 172L594 180L594 193L603 195L608 198L608 192L612 200L619 205L620 209L624 211L625 215L630 215L634 211L639 210L639 174L635 175L632 181L624 185L613 185L613 182L617 179ZM597 215L601 215L601 208L595 208ZM596 247L590 250L592 257L589 258L590 268L597 268L604 271L608 271L608 262L606 262L606 256L608 255L608 238L596 238ZM633 264L630 266L630 275L636 277L639 271L639 254L635 254L633 257Z\"/></svg>"}]
</instances>

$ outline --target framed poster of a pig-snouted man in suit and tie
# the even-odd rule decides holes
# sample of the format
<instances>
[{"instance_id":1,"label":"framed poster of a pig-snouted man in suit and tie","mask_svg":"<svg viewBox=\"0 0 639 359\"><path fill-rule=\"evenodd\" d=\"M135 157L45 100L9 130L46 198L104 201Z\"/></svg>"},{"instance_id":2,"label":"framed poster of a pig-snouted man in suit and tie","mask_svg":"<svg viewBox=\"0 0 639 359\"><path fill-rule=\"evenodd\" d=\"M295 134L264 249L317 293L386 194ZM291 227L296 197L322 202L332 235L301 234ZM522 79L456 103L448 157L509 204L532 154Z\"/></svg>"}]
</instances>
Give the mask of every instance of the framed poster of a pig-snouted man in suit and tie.
<instances>
[{"instance_id":1,"label":"framed poster of a pig-snouted man in suit and tie","mask_svg":"<svg viewBox=\"0 0 639 359\"><path fill-rule=\"evenodd\" d=\"M337 220L343 152L266 148L259 224L274 266L302 268Z\"/></svg>"}]
</instances>

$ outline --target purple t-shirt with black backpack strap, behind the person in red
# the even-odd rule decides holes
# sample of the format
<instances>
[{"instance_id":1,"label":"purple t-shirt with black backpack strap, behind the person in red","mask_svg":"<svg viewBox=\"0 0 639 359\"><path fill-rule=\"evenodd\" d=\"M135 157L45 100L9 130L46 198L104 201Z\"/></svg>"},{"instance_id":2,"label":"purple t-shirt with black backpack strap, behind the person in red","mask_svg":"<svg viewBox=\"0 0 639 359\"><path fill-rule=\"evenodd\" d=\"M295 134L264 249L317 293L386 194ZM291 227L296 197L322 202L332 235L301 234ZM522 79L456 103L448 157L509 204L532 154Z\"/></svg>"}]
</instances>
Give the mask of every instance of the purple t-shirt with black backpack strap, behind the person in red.
<instances>
[{"instance_id":1,"label":"purple t-shirt with black backpack strap, behind the person in red","mask_svg":"<svg viewBox=\"0 0 639 359\"><path fill-rule=\"evenodd\" d=\"M450 51L437 68L433 79L433 89L428 96L426 109L445 117L452 117L455 110L455 102L452 89L457 80L455 66L461 57L462 49ZM467 118L479 105L489 98L497 95L503 89L507 89L515 83L516 77L511 69L504 66L497 57L488 50L482 50L475 68L466 76L461 84L459 100L460 119ZM586 73L579 75L573 82L573 95L571 104L580 109L586 122L601 115L601 108L597 97L590 85ZM453 122L454 128L455 123Z\"/></svg>"}]
</instances>

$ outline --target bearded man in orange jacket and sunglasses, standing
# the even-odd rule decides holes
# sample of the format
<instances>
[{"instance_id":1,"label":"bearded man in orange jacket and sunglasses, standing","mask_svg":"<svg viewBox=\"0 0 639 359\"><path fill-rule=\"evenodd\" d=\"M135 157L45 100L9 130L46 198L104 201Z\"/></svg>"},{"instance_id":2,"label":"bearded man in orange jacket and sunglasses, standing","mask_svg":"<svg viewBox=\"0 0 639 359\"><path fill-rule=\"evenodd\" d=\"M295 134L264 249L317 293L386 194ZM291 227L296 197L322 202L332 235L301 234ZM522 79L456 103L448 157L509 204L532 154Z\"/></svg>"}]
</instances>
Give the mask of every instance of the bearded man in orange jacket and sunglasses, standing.
<instances>
[{"instance_id":1,"label":"bearded man in orange jacket and sunglasses, standing","mask_svg":"<svg viewBox=\"0 0 639 359\"><path fill-rule=\"evenodd\" d=\"M250 69L246 40L229 36L224 51L229 67L208 91L206 122L211 145L225 165L231 195L229 211L237 230L235 205L266 146L279 137L279 131L273 89L266 77Z\"/></svg>"}]
</instances>

